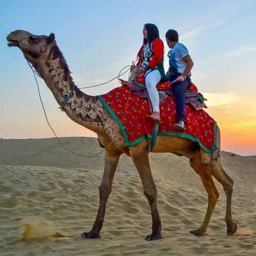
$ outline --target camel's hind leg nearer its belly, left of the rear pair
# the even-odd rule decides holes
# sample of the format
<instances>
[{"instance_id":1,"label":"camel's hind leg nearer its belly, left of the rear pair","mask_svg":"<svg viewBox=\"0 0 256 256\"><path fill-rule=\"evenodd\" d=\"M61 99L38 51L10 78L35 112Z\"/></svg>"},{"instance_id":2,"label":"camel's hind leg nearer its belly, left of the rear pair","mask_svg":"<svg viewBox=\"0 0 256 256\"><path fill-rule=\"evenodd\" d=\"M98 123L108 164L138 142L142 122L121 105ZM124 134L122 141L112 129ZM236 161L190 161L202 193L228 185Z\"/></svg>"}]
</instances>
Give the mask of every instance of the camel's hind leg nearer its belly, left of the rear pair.
<instances>
[{"instance_id":1,"label":"camel's hind leg nearer its belly, left of the rear pair","mask_svg":"<svg viewBox=\"0 0 256 256\"><path fill-rule=\"evenodd\" d=\"M219 198L219 193L214 184L214 181L212 180L211 175L206 171L202 164L200 151L198 151L195 156L190 159L190 165L202 180L203 186L208 194L208 207L203 224L198 229L191 230L189 232L191 234L194 234L195 236L203 236L209 224L217 200Z\"/></svg>"}]
</instances>

